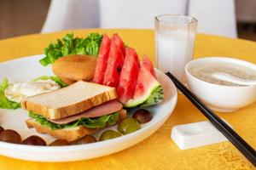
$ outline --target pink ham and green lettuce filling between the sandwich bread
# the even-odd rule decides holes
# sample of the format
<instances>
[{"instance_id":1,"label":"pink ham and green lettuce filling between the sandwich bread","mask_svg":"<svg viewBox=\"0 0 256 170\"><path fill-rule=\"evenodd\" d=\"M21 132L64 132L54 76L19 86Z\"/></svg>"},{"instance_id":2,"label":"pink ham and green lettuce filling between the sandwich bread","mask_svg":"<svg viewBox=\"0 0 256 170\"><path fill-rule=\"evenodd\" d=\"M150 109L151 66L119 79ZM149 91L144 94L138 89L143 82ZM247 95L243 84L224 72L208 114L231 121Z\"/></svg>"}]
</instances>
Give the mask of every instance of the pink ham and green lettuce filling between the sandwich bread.
<instances>
[{"instance_id":1,"label":"pink ham and green lettuce filling between the sandwich bread","mask_svg":"<svg viewBox=\"0 0 256 170\"><path fill-rule=\"evenodd\" d=\"M116 100L111 100L77 115L61 119L51 120L32 111L29 112L29 116L42 126L50 127L52 130L78 127L80 125L89 128L103 128L107 125L116 124L119 121L119 112L121 110L122 104Z\"/></svg>"}]
</instances>

